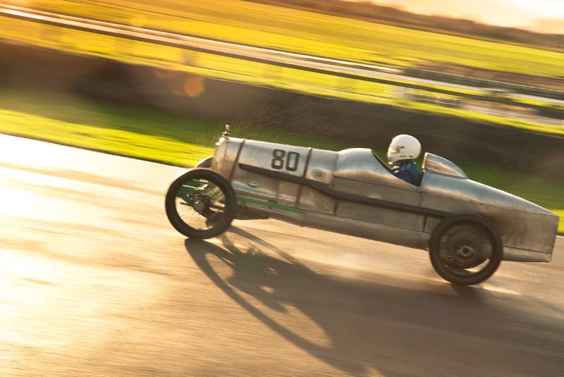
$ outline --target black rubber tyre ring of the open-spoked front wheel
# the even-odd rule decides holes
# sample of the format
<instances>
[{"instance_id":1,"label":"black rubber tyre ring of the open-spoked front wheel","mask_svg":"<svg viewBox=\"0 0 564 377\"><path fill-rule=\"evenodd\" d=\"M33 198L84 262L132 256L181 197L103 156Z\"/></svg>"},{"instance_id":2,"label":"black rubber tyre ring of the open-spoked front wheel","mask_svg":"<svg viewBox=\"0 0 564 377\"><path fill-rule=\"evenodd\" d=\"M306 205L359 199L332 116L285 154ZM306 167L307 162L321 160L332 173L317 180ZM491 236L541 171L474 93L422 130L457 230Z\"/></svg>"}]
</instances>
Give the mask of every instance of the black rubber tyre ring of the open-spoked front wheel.
<instances>
[{"instance_id":1,"label":"black rubber tyre ring of the open-spoked front wheel","mask_svg":"<svg viewBox=\"0 0 564 377\"><path fill-rule=\"evenodd\" d=\"M221 190L221 211L214 213L210 211L214 216L213 226L211 228L199 229L195 228L194 224L190 225L183 220L183 217L178 213L178 200L177 194L179 190L190 182L203 180L204 182L212 183L214 187ZM188 208L192 209L190 205L185 204ZM165 209L168 221L171 222L173 227L180 232L180 234L185 235L189 238L195 239L206 239L211 237L216 237L221 233L225 232L231 221L235 218L235 212L237 210L237 197L235 196L235 190L231 186L223 175L216 173L207 168L193 168L190 171L180 175L176 178L170 187L168 187L168 192L166 192L165 199ZM192 212L195 212L192 210ZM204 217L204 215L200 214ZM208 227L211 217L203 218L205 225Z\"/></svg>"}]
</instances>

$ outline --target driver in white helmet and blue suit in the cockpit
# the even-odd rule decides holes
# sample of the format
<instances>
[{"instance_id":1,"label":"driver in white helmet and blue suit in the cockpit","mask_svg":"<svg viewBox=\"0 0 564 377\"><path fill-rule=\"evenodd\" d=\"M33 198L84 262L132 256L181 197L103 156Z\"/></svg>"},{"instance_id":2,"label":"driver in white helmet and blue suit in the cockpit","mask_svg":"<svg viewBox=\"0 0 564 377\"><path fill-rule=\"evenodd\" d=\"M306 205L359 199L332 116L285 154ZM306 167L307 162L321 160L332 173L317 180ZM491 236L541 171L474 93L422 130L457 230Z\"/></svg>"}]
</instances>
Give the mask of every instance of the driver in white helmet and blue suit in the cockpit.
<instances>
[{"instance_id":1,"label":"driver in white helmet and blue suit in the cockpit","mask_svg":"<svg viewBox=\"0 0 564 377\"><path fill-rule=\"evenodd\" d=\"M388 161L393 164L392 173L411 185L419 185L421 172L413 160L419 157L421 144L411 135L398 135L388 147Z\"/></svg>"}]
</instances>

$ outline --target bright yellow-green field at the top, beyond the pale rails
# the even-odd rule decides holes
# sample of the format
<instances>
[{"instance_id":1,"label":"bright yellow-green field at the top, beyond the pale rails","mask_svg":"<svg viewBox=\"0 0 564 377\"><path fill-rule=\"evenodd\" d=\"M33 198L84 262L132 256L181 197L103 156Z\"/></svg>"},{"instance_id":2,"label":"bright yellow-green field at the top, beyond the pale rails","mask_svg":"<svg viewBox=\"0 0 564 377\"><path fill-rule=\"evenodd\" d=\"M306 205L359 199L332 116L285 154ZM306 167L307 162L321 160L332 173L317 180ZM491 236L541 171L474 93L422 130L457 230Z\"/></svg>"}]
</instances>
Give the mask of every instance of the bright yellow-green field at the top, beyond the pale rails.
<instances>
[{"instance_id":1,"label":"bright yellow-green field at the top, beyond the pale rails","mask_svg":"<svg viewBox=\"0 0 564 377\"><path fill-rule=\"evenodd\" d=\"M364 63L418 61L564 76L564 54L235 0L8 0L128 25ZM132 8L135 8L132 10Z\"/></svg>"}]
</instances>

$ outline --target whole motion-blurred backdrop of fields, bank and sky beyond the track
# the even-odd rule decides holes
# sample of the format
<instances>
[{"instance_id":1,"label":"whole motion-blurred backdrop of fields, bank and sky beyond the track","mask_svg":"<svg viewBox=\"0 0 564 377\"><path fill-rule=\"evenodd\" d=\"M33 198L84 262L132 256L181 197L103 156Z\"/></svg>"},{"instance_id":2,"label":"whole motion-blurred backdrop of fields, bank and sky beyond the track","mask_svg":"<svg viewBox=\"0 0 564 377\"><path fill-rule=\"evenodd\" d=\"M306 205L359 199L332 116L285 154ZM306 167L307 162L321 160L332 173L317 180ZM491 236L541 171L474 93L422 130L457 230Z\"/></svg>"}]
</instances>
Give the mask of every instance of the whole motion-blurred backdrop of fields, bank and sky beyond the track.
<instances>
[{"instance_id":1,"label":"whole motion-blurred backdrop of fields, bank and sky beyond the track","mask_svg":"<svg viewBox=\"0 0 564 377\"><path fill-rule=\"evenodd\" d=\"M563 23L558 0L3 1L0 132L176 166L225 123L377 152L410 133L563 214Z\"/></svg>"}]
</instances>

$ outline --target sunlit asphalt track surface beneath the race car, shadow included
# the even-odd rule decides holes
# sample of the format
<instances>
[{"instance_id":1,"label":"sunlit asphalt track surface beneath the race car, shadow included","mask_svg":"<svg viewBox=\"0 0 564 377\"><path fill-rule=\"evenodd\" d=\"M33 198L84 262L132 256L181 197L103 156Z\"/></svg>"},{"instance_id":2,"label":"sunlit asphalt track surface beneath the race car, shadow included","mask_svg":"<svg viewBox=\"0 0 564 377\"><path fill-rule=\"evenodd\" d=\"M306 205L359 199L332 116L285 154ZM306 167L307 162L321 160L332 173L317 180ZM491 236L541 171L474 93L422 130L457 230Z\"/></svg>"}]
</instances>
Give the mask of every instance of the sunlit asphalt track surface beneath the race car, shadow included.
<instances>
[{"instance_id":1,"label":"sunlit asphalt track surface beneath the race car, shadow included","mask_svg":"<svg viewBox=\"0 0 564 377\"><path fill-rule=\"evenodd\" d=\"M564 240L458 288L271 220L190 241L179 168L0 135L0 376L563 376Z\"/></svg>"}]
</instances>

